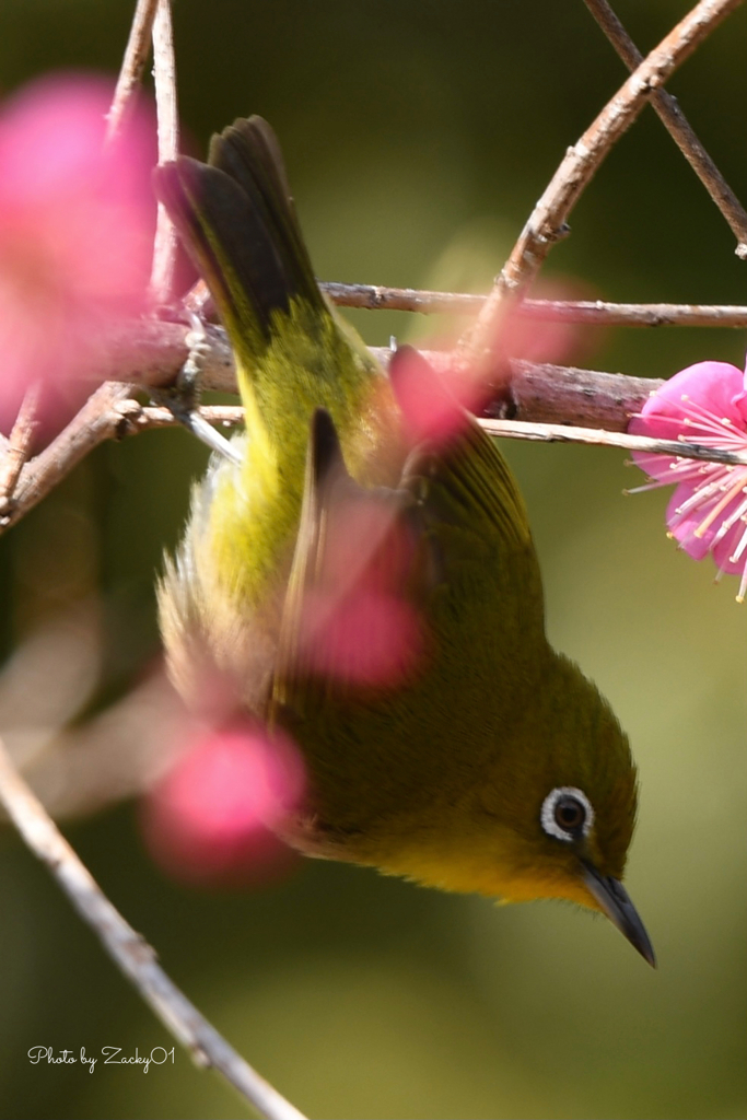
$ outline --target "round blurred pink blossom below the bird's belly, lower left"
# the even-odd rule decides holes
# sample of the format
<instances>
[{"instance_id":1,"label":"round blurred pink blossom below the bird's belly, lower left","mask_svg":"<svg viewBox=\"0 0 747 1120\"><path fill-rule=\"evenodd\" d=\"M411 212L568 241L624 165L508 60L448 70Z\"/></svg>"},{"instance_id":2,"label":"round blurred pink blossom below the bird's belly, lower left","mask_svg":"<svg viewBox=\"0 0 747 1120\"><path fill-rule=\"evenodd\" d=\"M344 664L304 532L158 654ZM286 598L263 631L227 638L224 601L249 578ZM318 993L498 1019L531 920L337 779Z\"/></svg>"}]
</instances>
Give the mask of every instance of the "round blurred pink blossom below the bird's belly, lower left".
<instances>
[{"instance_id":1,"label":"round blurred pink blossom below the bird's belly, lower left","mask_svg":"<svg viewBox=\"0 0 747 1120\"><path fill-rule=\"evenodd\" d=\"M241 885L292 858L273 830L300 808L300 755L260 727L213 731L181 755L142 803L146 841L175 878Z\"/></svg>"}]
</instances>

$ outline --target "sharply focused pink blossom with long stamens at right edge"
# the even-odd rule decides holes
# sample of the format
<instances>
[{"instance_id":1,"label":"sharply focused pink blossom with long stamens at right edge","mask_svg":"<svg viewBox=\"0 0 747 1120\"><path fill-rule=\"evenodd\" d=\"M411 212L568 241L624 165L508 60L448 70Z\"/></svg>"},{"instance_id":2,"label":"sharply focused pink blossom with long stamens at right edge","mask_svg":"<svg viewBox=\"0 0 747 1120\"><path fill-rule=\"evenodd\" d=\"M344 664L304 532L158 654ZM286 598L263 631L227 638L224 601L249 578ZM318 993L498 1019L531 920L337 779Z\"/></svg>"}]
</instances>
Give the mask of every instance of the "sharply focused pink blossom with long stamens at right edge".
<instances>
[{"instance_id":1,"label":"sharply focused pink blossom with long stamens at right edge","mask_svg":"<svg viewBox=\"0 0 747 1120\"><path fill-rule=\"evenodd\" d=\"M648 398L628 431L747 451L747 374L726 362L691 365ZM634 459L652 478L638 491L676 485L666 508L672 536L695 560L710 552L719 576L741 576L741 603L747 591L747 467L639 451Z\"/></svg>"}]
</instances>

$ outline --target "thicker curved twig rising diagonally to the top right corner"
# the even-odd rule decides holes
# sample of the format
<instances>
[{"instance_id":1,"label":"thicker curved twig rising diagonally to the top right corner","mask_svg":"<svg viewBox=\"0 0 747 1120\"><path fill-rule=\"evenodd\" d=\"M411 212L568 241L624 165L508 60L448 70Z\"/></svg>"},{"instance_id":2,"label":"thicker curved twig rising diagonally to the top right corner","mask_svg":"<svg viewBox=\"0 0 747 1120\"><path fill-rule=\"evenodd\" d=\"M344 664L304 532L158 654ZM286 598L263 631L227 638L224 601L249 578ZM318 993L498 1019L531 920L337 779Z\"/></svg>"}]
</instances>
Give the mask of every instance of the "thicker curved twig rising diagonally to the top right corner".
<instances>
[{"instance_id":1,"label":"thicker curved twig rising diagonally to the top right corner","mask_svg":"<svg viewBox=\"0 0 747 1120\"><path fill-rule=\"evenodd\" d=\"M457 357L465 365L489 360L510 305L535 279L552 245L568 232L568 217L605 157L661 86L741 0L700 0L651 52L615 96L568 149L524 226L493 290L463 336Z\"/></svg>"}]
</instances>

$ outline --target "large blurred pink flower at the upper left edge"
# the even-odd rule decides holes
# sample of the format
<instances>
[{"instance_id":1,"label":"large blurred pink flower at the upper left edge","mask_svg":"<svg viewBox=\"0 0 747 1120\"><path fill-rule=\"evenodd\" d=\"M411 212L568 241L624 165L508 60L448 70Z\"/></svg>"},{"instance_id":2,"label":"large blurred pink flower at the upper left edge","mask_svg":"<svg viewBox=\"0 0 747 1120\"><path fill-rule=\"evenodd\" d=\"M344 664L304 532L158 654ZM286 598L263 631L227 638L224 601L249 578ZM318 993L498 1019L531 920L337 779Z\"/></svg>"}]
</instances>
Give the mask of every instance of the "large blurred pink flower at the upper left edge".
<instances>
[{"instance_id":1,"label":"large blurred pink flower at the upper left edge","mask_svg":"<svg viewBox=\"0 0 747 1120\"><path fill-rule=\"evenodd\" d=\"M91 375L139 312L152 243L152 124L104 147L109 81L59 74L0 108L0 421L29 382Z\"/></svg>"}]
</instances>

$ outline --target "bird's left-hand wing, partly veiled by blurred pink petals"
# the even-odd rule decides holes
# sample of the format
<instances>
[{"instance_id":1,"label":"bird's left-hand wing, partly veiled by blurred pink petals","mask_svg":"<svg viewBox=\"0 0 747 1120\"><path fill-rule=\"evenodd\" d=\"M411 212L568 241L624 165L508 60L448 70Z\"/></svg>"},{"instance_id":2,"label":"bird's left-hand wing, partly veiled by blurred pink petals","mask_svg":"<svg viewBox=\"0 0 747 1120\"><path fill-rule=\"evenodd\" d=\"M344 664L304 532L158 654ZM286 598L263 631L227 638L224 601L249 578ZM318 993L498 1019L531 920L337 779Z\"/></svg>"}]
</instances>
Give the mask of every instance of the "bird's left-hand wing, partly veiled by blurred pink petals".
<instances>
[{"instance_id":1,"label":"bird's left-hand wing, partly veiled by blurred pink petals","mask_svg":"<svg viewBox=\"0 0 747 1120\"><path fill-rule=\"evenodd\" d=\"M415 599L429 581L419 520L408 489L367 488L353 479L332 417L317 409L273 707L296 707L301 697L306 706L315 692L321 699L329 691L381 685L404 671ZM381 632L387 618L391 634Z\"/></svg>"}]
</instances>

